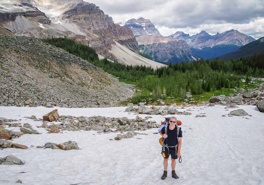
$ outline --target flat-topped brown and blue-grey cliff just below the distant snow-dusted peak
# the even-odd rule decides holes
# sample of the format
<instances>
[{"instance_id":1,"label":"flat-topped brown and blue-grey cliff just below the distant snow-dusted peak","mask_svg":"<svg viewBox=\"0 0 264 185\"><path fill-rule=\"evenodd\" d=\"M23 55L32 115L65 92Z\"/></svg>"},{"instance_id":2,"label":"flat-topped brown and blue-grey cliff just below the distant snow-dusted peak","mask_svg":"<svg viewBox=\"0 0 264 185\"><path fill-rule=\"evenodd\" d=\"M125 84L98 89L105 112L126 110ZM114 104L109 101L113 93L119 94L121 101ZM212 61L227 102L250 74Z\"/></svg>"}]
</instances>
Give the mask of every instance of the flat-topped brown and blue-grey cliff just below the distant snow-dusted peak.
<instances>
[{"instance_id":1,"label":"flat-topped brown and blue-grey cliff just below the distant snow-dusted peak","mask_svg":"<svg viewBox=\"0 0 264 185\"><path fill-rule=\"evenodd\" d=\"M145 35L137 37L140 51L147 54L155 61L167 64L181 61L193 61L197 56L192 53L184 40L171 37Z\"/></svg>"}]
</instances>

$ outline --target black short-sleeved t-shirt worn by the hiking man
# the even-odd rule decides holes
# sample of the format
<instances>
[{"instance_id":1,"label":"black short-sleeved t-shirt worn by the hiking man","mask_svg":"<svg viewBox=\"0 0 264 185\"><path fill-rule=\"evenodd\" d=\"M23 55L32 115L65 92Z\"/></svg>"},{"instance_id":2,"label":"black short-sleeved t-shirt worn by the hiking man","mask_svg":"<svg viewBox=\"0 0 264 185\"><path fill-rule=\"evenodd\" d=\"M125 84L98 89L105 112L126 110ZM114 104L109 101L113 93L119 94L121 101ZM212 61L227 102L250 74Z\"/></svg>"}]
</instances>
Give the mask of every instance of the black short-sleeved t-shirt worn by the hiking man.
<instances>
[{"instance_id":1,"label":"black short-sleeved t-shirt worn by the hiking man","mask_svg":"<svg viewBox=\"0 0 264 185\"><path fill-rule=\"evenodd\" d=\"M168 138L165 138L164 140L164 144L168 145L168 146L175 146L178 144L178 139L177 139L177 127L175 125L175 128L173 130L170 130L169 128L170 124L168 124L168 128L167 128L167 135ZM163 127L161 129L161 133L165 134L165 127ZM182 138L182 131L181 128L179 129L179 133L178 133L178 138Z\"/></svg>"}]
</instances>

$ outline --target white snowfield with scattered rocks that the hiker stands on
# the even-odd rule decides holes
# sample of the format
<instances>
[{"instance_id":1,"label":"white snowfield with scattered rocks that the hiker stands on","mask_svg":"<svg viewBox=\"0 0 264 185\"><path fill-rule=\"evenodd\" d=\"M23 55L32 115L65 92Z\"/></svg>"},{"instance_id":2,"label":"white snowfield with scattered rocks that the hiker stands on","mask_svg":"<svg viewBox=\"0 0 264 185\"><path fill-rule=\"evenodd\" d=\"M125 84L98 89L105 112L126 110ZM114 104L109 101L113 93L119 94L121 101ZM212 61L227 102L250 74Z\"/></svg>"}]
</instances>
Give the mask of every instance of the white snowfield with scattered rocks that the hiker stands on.
<instances>
[{"instance_id":1,"label":"white snowfield with scattered rocks that the hiker stands on","mask_svg":"<svg viewBox=\"0 0 264 185\"><path fill-rule=\"evenodd\" d=\"M168 177L161 180L163 158L158 142L157 129L136 131L134 138L114 140L117 133L98 134L96 131L63 131L47 134L37 128L37 118L55 108L46 107L0 107L0 117L22 119L42 134L24 134L14 143L27 145L26 150L5 148L0 157L14 155L25 161L25 165L0 165L0 184L16 184L20 179L27 185L70 184L264 184L264 114L256 106L239 106L250 116L228 117L231 110L225 106L188 107L191 115L177 115L182 121L182 163L177 161L178 180L171 178L169 160ZM135 118L124 112L126 107L110 108L58 108L59 115ZM238 109L238 108L237 108ZM206 113L206 117L195 117ZM203 114L200 114L203 115ZM226 117L222 117L226 115ZM144 118L147 115L141 114ZM157 123L165 116L151 115ZM169 116L169 115L167 115ZM166 117L167 117L166 116ZM249 118L249 119L245 119ZM6 127L19 131L19 127ZM141 138L141 139L137 139ZM111 141L110 139L113 139ZM46 142L62 143L76 141L81 150L42 149ZM30 145L35 147L30 148ZM25 173L20 173L25 172Z\"/></svg>"}]
</instances>

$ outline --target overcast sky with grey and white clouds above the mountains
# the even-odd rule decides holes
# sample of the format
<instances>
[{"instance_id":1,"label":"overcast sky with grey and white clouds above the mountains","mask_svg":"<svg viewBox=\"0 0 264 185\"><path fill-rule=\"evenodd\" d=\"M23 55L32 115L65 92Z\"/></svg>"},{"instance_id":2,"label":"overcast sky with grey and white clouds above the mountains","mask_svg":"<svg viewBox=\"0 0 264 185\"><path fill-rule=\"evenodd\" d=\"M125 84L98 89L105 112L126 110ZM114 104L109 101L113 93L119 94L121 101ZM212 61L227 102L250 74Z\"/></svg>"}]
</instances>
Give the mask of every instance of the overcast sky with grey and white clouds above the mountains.
<instances>
[{"instance_id":1,"label":"overcast sky with grey and white clouds above the mountains","mask_svg":"<svg viewBox=\"0 0 264 185\"><path fill-rule=\"evenodd\" d=\"M100 7L115 23L142 16L163 36L238 30L264 37L264 0L85 0Z\"/></svg>"}]
</instances>

